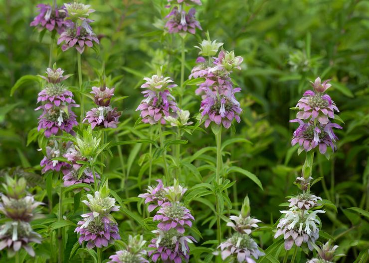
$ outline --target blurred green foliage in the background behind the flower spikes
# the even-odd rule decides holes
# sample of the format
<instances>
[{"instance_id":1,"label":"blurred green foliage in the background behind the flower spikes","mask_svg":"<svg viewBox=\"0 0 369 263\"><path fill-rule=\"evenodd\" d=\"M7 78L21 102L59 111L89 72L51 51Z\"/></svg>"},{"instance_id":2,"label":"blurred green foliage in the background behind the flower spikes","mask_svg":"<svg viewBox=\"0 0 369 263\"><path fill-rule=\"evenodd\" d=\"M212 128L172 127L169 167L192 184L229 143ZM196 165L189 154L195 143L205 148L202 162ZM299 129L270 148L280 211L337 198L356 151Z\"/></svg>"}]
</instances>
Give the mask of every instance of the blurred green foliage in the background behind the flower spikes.
<instances>
[{"instance_id":1,"label":"blurred green foliage in the background behind the flower spikes","mask_svg":"<svg viewBox=\"0 0 369 263\"><path fill-rule=\"evenodd\" d=\"M47 1L44 1L46 3ZM49 1L51 3L52 1ZM129 96L116 106L123 111L121 125L116 133L120 140L145 137L147 126L133 128L139 114L135 112L142 99L139 86L144 76L156 72L157 65L164 65L166 74L180 82L180 39L163 34L162 17L168 13L166 0L86 0L96 10L91 24L101 40L100 52L87 49L82 55L85 90L99 82L99 72L105 65L108 84L116 87L116 95ZM245 193L249 194L252 215L266 225L279 218L278 204L285 196L295 194L293 185L301 173L304 154L297 156L290 140L295 125L289 124L295 106L309 80L320 76L332 79L329 94L336 102L345 122L337 132L338 150L328 161L315 159L313 176L324 179L316 183L315 194L331 200L338 208L321 215L323 230L336 239L340 252L349 255L341 262L353 262L360 251L368 249L368 217L347 209L369 208L369 1L364 0L203 0L196 6L196 17L203 32L186 38L186 71L188 76L198 50L193 46L209 31L211 39L224 42L226 50L234 50L242 56L242 71L234 75L242 88L237 98L244 113L235 130L224 134L246 138L253 145L239 144L229 147L226 162L242 167L257 175L264 191L242 175L232 175L237 189L229 195L239 208ZM27 136L37 125L39 112L36 107L36 82L25 81L10 97L10 88L23 75L42 74L49 60L50 34L40 41L39 32L29 26L37 9L35 0L0 1L0 168L33 167L40 174L38 164L42 159L37 144L27 146ZM62 1L58 0L61 4ZM68 74L76 73L76 52L70 49L53 50L57 66ZM77 85L77 76L66 81ZM184 109L197 114L200 98L193 93L195 87L186 89ZM77 101L78 102L78 101ZM85 105L89 108L90 104ZM192 120L193 120L192 119ZM112 134L111 134L112 135ZM211 132L196 131L186 135L189 143L183 146L191 155L215 142ZM113 138L113 137L111 137ZM147 146L123 148L129 168L129 196L135 197L146 188L143 158ZM132 151L136 151L132 155ZM215 158L211 153L209 158ZM199 158L195 166L210 162ZM111 187L119 189L120 171L117 153L108 164ZM159 176L159 171L158 177ZM187 185L195 183L189 171L183 176ZM201 171L206 178L210 171ZM137 175L142 183L136 182ZM114 184L114 182L116 183ZM325 189L326 188L326 189ZM122 190L122 189L121 189ZM236 191L234 191L236 190ZM135 210L135 205L132 208ZM206 206L193 202L191 209L197 219L196 226L205 240L214 239L215 233L205 219L209 216ZM206 210L206 211L205 211ZM209 210L211 213L211 210ZM368 216L368 215L367 215ZM129 223L124 227L127 235L133 231ZM224 228L225 229L225 228ZM133 231L134 232L134 231ZM259 234L262 248L272 243L272 232ZM201 243L201 242L200 242ZM303 260L303 259L302 259ZM302 261L301 261L302 262Z\"/></svg>"}]
</instances>

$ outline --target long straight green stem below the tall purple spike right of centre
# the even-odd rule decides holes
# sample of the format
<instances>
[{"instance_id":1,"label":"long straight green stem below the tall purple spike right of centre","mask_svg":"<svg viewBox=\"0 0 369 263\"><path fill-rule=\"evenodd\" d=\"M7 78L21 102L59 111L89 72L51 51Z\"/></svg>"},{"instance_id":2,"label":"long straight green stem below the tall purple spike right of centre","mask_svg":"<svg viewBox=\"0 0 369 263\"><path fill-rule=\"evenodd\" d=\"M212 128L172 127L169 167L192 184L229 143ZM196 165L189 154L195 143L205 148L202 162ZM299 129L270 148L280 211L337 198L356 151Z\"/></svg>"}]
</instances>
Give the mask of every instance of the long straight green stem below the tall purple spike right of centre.
<instances>
[{"instance_id":1,"label":"long straight green stem below the tall purple spike right of centre","mask_svg":"<svg viewBox=\"0 0 369 263\"><path fill-rule=\"evenodd\" d=\"M221 157L221 138L222 138L222 126L219 126L219 132L215 135L216 140L216 174L215 180L217 184L220 184L220 171L222 167L222 157ZM220 200L218 194L215 195L216 203L216 228L217 228L217 239L218 244L220 245L222 240L222 232L221 232L221 224L220 224Z\"/></svg>"}]
</instances>

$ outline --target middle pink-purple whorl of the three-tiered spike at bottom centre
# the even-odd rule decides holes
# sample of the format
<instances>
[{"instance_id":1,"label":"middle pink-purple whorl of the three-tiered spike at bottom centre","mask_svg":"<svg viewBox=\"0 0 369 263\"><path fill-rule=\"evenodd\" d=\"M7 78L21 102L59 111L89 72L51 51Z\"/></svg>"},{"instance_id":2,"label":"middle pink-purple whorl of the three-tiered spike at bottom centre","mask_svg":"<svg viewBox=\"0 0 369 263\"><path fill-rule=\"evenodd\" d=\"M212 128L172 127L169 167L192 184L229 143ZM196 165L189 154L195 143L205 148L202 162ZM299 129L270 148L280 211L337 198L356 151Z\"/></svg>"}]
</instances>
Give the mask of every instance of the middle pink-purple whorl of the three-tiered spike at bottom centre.
<instances>
[{"instance_id":1,"label":"middle pink-purple whorl of the three-tiered spike at bottom centre","mask_svg":"<svg viewBox=\"0 0 369 263\"><path fill-rule=\"evenodd\" d=\"M173 228L183 234L184 225L191 227L191 220L194 220L194 218L191 212L181 203L173 202L161 207L153 220L160 221L158 228L162 231L169 231Z\"/></svg>"}]
</instances>

